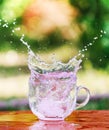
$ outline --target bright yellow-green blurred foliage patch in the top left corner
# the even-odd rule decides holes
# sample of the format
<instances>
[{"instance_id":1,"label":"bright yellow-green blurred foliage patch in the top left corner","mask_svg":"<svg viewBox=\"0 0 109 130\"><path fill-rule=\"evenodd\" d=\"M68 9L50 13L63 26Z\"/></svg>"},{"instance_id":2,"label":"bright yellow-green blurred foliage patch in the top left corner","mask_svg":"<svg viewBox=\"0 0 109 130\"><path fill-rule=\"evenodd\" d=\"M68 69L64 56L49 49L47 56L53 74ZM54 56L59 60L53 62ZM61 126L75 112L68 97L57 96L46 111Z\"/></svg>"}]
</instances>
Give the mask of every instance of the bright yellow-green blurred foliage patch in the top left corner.
<instances>
[{"instance_id":1,"label":"bright yellow-green blurred foliage patch in the top left corner","mask_svg":"<svg viewBox=\"0 0 109 130\"><path fill-rule=\"evenodd\" d=\"M3 0L0 15L8 22L20 17L30 0Z\"/></svg>"}]
</instances>

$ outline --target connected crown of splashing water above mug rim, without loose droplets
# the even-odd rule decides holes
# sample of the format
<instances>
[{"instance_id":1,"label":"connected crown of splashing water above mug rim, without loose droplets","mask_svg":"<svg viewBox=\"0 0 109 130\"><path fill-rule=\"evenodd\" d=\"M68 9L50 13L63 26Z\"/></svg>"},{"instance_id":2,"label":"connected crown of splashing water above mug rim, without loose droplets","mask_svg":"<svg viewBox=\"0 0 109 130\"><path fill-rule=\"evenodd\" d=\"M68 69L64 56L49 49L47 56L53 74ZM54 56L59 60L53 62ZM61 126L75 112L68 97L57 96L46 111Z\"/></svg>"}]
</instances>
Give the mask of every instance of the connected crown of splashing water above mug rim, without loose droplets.
<instances>
[{"instance_id":1,"label":"connected crown of splashing water above mug rim, without loose droplets","mask_svg":"<svg viewBox=\"0 0 109 130\"><path fill-rule=\"evenodd\" d=\"M76 73L80 68L80 63L82 62L82 60L77 60L76 57L69 60L68 63L56 61L55 58L52 59L53 63L46 63L43 60L41 60L40 56L38 54L35 54L31 50L30 45L24 41L24 34L22 35L20 41L28 48L28 66L30 70L33 69L42 74L54 71L73 71Z\"/></svg>"}]
</instances>

